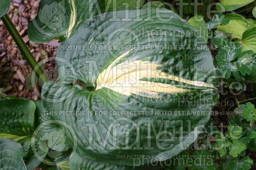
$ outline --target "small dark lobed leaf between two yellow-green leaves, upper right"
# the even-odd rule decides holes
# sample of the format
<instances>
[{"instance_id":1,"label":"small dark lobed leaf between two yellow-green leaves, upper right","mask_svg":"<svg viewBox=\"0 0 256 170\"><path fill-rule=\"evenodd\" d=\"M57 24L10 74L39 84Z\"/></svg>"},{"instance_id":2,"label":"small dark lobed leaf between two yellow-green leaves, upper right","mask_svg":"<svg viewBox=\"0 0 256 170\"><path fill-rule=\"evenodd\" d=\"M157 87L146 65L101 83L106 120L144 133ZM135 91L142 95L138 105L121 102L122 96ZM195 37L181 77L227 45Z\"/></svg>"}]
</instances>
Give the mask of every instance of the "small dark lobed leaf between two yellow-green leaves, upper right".
<instances>
[{"instance_id":1,"label":"small dark lobed leaf between two yellow-green leaves, upper right","mask_svg":"<svg viewBox=\"0 0 256 170\"><path fill-rule=\"evenodd\" d=\"M218 13L218 14L215 14L213 17L212 17L212 20L211 21L208 21L206 23L207 25L207 28L209 30L213 29L213 28L216 28L217 26L219 26L220 24L223 24L223 25L226 25L228 24L230 21L229 18L225 18L225 15L222 14L222 13Z\"/></svg>"}]
</instances>

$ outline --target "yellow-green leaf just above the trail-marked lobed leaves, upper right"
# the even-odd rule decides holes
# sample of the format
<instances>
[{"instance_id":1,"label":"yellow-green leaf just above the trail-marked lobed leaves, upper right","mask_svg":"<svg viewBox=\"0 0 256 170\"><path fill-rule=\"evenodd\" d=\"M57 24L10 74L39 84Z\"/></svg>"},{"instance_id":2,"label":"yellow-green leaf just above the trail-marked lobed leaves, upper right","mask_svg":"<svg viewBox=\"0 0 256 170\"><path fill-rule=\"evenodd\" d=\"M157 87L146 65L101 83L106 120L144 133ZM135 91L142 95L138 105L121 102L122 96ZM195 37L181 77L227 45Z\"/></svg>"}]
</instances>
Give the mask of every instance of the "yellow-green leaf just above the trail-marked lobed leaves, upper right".
<instances>
[{"instance_id":1,"label":"yellow-green leaf just above the trail-marked lobed leaves, upper right","mask_svg":"<svg viewBox=\"0 0 256 170\"><path fill-rule=\"evenodd\" d=\"M250 28L248 21L239 14L227 14L224 19L229 19L229 23L219 25L217 30L232 33L232 38L242 39L243 33Z\"/></svg>"}]
</instances>

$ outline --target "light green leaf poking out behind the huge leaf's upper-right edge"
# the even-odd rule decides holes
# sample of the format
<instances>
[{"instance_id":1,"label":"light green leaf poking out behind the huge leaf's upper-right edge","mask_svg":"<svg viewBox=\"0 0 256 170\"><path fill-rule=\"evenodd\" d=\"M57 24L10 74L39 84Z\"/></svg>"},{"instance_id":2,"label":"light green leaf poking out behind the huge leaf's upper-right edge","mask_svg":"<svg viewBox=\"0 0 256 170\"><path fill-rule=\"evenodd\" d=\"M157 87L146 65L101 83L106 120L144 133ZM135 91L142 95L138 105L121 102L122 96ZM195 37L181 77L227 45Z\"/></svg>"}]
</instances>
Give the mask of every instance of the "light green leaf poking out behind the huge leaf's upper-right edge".
<instances>
[{"instance_id":1,"label":"light green leaf poking out behind the huge leaf's upper-right edge","mask_svg":"<svg viewBox=\"0 0 256 170\"><path fill-rule=\"evenodd\" d=\"M207 25L204 22L204 18L200 15L189 18L188 23L195 27L202 37L204 37L205 43L208 42L208 30Z\"/></svg>"}]
</instances>

